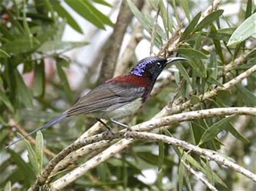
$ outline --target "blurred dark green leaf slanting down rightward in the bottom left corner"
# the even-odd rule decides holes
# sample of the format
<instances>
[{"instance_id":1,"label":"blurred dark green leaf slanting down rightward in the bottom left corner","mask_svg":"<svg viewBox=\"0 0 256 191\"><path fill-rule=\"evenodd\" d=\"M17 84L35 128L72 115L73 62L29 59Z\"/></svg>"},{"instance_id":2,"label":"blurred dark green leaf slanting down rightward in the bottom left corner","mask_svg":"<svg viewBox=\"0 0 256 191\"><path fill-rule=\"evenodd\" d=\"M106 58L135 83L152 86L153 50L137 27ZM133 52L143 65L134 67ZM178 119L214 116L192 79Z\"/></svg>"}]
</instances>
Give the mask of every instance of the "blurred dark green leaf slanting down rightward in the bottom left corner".
<instances>
[{"instance_id":1,"label":"blurred dark green leaf slanting down rightward in the bottom left corner","mask_svg":"<svg viewBox=\"0 0 256 191\"><path fill-rule=\"evenodd\" d=\"M15 162L15 164L21 168L21 172L24 177L26 177L26 181L30 182L30 184L33 183L33 181L36 179L35 173L33 172L33 169L29 164L27 164L19 154L17 154L13 150L8 150L8 152L11 154L11 160Z\"/></svg>"}]
</instances>

